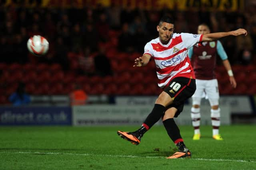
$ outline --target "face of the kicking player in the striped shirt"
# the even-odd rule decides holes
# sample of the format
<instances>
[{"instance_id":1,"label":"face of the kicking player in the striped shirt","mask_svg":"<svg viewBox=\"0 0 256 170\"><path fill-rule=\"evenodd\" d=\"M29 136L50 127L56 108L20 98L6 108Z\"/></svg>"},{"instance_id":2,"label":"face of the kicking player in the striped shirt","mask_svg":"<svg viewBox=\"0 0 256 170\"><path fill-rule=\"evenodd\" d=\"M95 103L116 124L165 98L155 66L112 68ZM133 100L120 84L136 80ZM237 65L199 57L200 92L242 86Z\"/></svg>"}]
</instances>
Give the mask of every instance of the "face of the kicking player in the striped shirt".
<instances>
[{"instance_id":1,"label":"face of the kicking player in the striped shirt","mask_svg":"<svg viewBox=\"0 0 256 170\"><path fill-rule=\"evenodd\" d=\"M174 31L174 25L172 23L163 22L162 25L157 26L157 31L159 32L160 41L163 44L167 44Z\"/></svg>"}]
</instances>

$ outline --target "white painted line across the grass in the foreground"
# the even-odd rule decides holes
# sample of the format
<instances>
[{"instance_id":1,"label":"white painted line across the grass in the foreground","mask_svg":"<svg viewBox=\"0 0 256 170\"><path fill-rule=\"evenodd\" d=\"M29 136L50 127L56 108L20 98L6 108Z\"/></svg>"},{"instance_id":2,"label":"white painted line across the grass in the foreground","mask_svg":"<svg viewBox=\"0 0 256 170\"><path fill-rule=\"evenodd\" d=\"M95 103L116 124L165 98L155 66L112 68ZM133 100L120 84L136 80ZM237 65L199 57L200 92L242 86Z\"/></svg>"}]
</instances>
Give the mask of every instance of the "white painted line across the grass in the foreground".
<instances>
[{"instance_id":1,"label":"white painted line across the grass in the foreground","mask_svg":"<svg viewBox=\"0 0 256 170\"><path fill-rule=\"evenodd\" d=\"M110 155L110 154L88 154L88 153L61 153L61 152L0 152L0 153L17 153L17 154L55 154L55 155L80 155L80 156L106 156L106 157L122 157L122 158L165 158L162 156L133 156L133 155ZM191 158L192 160L207 160L220 162L252 162L254 160L230 160L230 159L205 159L205 158Z\"/></svg>"}]
</instances>

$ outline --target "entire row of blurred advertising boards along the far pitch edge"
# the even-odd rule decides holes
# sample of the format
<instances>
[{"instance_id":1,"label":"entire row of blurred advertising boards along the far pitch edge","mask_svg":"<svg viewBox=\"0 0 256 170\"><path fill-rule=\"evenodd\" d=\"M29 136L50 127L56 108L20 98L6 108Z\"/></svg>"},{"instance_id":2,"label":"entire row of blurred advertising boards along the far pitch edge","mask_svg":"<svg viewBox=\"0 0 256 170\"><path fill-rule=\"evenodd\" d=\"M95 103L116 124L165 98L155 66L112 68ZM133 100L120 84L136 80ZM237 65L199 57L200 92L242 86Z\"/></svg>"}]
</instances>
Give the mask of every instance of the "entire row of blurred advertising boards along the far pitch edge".
<instances>
[{"instance_id":1,"label":"entire row of blurred advertising boards along the far pitch edge","mask_svg":"<svg viewBox=\"0 0 256 170\"><path fill-rule=\"evenodd\" d=\"M26 107L1 106L0 125L140 125L152 110L156 98L157 96L116 96L112 102L108 102L106 96L94 96L90 100L92 104L70 107L68 97L65 96L38 97L35 99L40 105L35 102L35 105ZM42 100L47 104L44 105ZM186 101L184 111L176 119L178 124L191 125L191 105L191 99ZM222 125L229 125L231 116L255 115L254 96L221 96L220 109ZM202 100L200 112L201 124L210 125L208 100Z\"/></svg>"}]
</instances>

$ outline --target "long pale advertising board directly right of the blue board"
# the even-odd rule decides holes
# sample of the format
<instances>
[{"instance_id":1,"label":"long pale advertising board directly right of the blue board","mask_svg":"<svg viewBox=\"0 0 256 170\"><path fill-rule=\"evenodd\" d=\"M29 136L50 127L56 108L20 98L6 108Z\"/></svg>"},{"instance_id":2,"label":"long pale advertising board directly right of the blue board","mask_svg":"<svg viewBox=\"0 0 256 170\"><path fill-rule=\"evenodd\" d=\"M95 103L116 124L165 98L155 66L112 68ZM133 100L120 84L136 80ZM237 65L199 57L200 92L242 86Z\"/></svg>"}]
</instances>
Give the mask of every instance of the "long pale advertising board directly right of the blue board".
<instances>
[{"instance_id":1,"label":"long pale advertising board directly right of the blue board","mask_svg":"<svg viewBox=\"0 0 256 170\"><path fill-rule=\"evenodd\" d=\"M73 125L140 125L152 110L153 105L88 105L72 107ZM222 106L222 125L230 125L230 107ZM179 125L190 125L190 107L184 107L178 118ZM158 125L161 124L158 121ZM211 125L210 106L201 107L201 124Z\"/></svg>"}]
</instances>

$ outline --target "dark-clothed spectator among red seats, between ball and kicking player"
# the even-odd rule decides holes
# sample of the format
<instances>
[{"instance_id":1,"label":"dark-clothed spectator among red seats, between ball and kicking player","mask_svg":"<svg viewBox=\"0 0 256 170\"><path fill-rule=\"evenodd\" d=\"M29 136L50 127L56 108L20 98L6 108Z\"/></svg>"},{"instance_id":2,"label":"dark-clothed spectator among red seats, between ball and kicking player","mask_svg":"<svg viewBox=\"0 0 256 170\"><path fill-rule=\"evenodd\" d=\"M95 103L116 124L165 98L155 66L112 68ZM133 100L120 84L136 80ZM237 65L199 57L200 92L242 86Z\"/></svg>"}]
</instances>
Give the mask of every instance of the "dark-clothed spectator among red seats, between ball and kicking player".
<instances>
[{"instance_id":1,"label":"dark-clothed spectator among red seats, between ball and kicking player","mask_svg":"<svg viewBox=\"0 0 256 170\"><path fill-rule=\"evenodd\" d=\"M99 54L94 57L94 68L99 76L112 75L110 61L105 55L104 47L100 47Z\"/></svg>"}]
</instances>

